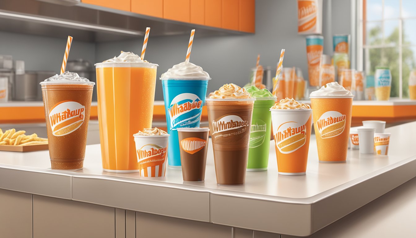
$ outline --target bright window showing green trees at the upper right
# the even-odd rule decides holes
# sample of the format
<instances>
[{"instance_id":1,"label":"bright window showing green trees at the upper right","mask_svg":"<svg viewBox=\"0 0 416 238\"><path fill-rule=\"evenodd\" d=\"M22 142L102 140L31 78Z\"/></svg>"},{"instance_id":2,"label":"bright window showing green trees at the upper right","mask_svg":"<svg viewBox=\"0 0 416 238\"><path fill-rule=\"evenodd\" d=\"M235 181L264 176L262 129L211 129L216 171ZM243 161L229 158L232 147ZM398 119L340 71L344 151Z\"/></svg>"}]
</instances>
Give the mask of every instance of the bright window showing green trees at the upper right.
<instances>
[{"instance_id":1,"label":"bright window showing green trees at the upper right","mask_svg":"<svg viewBox=\"0 0 416 238\"><path fill-rule=\"evenodd\" d=\"M391 97L409 98L409 76L416 69L416 0L358 0L357 5L357 63L366 75L389 67Z\"/></svg>"}]
</instances>

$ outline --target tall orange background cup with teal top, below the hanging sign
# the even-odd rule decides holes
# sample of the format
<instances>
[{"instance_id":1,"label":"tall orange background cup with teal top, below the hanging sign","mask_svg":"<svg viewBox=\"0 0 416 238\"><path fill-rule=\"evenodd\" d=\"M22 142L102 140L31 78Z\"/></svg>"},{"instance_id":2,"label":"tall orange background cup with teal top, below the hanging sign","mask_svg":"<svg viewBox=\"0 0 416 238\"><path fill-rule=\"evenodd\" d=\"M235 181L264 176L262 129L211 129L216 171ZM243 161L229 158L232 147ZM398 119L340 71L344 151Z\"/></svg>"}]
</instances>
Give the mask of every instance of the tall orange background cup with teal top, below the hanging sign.
<instances>
[{"instance_id":1,"label":"tall orange background cup with teal top, below the hanging sign","mask_svg":"<svg viewBox=\"0 0 416 238\"><path fill-rule=\"evenodd\" d=\"M308 60L309 85L319 86L319 63L324 50L324 37L309 35L306 37L306 54Z\"/></svg>"}]
</instances>

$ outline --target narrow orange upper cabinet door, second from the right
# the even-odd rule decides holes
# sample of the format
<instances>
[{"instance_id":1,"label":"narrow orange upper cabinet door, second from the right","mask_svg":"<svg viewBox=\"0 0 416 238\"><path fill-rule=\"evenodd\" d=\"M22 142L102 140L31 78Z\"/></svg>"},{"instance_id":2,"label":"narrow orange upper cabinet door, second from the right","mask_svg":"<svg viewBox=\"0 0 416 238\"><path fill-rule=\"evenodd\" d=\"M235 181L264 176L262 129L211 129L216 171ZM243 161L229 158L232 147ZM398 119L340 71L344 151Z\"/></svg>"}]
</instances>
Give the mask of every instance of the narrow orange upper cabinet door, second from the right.
<instances>
[{"instance_id":1,"label":"narrow orange upper cabinet door, second from the right","mask_svg":"<svg viewBox=\"0 0 416 238\"><path fill-rule=\"evenodd\" d=\"M221 9L221 27L229 30L239 29L239 0L223 0Z\"/></svg>"}]
</instances>

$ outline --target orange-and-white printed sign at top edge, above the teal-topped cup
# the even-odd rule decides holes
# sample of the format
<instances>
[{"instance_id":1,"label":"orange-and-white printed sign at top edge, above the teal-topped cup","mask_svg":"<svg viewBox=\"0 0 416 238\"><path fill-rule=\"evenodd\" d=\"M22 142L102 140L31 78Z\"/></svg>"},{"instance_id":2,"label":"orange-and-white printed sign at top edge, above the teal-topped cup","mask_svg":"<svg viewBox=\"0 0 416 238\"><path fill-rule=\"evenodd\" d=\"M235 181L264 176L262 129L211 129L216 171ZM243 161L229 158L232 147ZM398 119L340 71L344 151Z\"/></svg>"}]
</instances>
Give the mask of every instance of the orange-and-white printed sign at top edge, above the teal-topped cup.
<instances>
[{"instance_id":1,"label":"orange-and-white printed sign at top edge, above the teal-topped cup","mask_svg":"<svg viewBox=\"0 0 416 238\"><path fill-rule=\"evenodd\" d=\"M297 33L322 34L322 0L297 0Z\"/></svg>"}]
</instances>

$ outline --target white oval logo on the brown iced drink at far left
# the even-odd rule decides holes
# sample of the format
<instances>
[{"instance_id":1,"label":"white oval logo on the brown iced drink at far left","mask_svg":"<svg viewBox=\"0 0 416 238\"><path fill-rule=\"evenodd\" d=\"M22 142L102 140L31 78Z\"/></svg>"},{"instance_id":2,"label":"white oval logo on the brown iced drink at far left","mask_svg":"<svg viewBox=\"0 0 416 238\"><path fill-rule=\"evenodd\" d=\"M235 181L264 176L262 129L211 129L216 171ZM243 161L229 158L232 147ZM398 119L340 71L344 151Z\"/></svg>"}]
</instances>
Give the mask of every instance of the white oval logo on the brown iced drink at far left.
<instances>
[{"instance_id":1,"label":"white oval logo on the brown iced drink at far left","mask_svg":"<svg viewBox=\"0 0 416 238\"><path fill-rule=\"evenodd\" d=\"M77 130L84 123L85 106L74 101L61 101L49 112L52 135L62 136Z\"/></svg>"}]
</instances>

